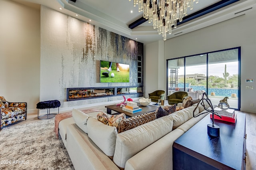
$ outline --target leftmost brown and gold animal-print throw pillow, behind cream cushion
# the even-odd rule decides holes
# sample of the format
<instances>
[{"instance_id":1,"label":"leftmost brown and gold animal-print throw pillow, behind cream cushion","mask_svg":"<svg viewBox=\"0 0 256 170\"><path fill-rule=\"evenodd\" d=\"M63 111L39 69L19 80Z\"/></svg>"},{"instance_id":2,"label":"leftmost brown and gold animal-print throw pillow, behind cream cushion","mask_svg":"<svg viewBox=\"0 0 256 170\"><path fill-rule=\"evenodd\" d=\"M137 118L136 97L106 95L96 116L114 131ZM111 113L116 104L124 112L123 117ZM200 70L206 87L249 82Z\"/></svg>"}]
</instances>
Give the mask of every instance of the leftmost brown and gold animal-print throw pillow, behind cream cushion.
<instances>
[{"instance_id":1,"label":"leftmost brown and gold animal-print throw pillow, behind cream cushion","mask_svg":"<svg viewBox=\"0 0 256 170\"><path fill-rule=\"evenodd\" d=\"M100 112L97 115L98 121L104 123L105 125L116 127L116 129L119 129L120 122L125 119L125 114L121 113L119 115L109 115L107 113Z\"/></svg>"}]
</instances>

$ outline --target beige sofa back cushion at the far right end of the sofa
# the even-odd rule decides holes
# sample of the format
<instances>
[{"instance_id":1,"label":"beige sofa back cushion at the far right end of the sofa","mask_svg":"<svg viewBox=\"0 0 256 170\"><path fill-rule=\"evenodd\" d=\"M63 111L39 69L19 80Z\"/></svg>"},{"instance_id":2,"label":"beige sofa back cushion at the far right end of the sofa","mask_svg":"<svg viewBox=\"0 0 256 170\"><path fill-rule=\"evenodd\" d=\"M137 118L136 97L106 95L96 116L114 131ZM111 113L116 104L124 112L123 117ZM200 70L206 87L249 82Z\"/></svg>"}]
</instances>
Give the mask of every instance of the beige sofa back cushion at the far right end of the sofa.
<instances>
[{"instance_id":1,"label":"beige sofa back cushion at the far right end of the sofa","mask_svg":"<svg viewBox=\"0 0 256 170\"><path fill-rule=\"evenodd\" d=\"M188 121L189 119L191 119L193 117L193 111L195 108L196 104L168 115L173 119L173 130L182 125L183 123L185 123L186 121ZM198 111L199 109L196 109L196 112Z\"/></svg>"}]
</instances>

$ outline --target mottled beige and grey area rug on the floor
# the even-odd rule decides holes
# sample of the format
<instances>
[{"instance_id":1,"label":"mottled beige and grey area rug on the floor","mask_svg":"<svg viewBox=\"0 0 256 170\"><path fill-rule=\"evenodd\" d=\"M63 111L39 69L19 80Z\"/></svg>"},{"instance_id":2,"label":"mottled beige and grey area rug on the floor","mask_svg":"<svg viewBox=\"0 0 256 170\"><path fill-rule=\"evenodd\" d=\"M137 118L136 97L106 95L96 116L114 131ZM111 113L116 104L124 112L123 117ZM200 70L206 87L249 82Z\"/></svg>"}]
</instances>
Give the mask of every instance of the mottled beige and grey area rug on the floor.
<instances>
[{"instance_id":1,"label":"mottled beige and grey area rug on the floor","mask_svg":"<svg viewBox=\"0 0 256 170\"><path fill-rule=\"evenodd\" d=\"M74 170L54 118L2 128L0 170Z\"/></svg>"}]
</instances>

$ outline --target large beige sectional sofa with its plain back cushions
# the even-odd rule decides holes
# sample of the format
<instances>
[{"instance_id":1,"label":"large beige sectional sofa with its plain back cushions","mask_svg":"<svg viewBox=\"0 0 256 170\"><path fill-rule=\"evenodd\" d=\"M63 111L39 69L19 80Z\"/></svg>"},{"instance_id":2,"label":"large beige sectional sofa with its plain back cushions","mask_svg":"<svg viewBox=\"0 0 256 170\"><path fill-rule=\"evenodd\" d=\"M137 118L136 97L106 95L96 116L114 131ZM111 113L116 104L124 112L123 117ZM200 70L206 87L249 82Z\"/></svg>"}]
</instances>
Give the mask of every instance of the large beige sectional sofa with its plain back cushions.
<instances>
[{"instance_id":1,"label":"large beige sectional sofa with its plain back cushions","mask_svg":"<svg viewBox=\"0 0 256 170\"><path fill-rule=\"evenodd\" d=\"M193 117L196 105L121 133L98 121L98 112L73 109L59 134L76 170L170 170L174 141L208 115ZM199 105L195 115L203 111Z\"/></svg>"}]
</instances>

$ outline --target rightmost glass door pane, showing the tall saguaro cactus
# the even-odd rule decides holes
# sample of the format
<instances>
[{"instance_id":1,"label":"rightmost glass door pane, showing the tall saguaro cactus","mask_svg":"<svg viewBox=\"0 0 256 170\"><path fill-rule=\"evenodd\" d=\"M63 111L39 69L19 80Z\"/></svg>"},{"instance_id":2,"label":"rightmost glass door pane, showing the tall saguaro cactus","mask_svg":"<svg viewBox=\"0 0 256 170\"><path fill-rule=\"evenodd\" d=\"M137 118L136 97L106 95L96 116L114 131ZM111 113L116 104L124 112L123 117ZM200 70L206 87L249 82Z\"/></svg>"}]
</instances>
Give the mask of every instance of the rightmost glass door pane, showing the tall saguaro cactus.
<instances>
[{"instance_id":1,"label":"rightmost glass door pane, showing the tall saguaro cactus","mask_svg":"<svg viewBox=\"0 0 256 170\"><path fill-rule=\"evenodd\" d=\"M238 49L208 54L208 96L218 105L228 97L231 108L238 109Z\"/></svg>"}]
</instances>

